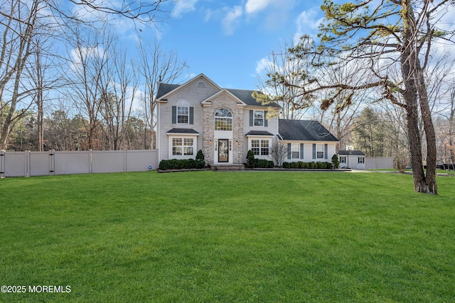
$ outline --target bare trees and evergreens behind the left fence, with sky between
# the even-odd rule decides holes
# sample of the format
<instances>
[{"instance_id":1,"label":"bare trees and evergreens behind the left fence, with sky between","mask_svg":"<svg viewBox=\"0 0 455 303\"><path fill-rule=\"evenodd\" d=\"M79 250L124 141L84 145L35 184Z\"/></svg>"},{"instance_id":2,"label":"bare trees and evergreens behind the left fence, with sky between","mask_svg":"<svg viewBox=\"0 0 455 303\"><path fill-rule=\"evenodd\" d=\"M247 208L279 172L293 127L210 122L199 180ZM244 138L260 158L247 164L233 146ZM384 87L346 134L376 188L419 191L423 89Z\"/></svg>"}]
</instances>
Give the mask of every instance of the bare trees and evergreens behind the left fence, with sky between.
<instances>
[{"instance_id":1,"label":"bare trees and evergreens behind the left fence, with sky between","mask_svg":"<svg viewBox=\"0 0 455 303\"><path fill-rule=\"evenodd\" d=\"M127 50L114 21L166 18L164 1L10 0L0 13L0 150L154 148L159 81L186 69L157 40Z\"/></svg>"}]
</instances>

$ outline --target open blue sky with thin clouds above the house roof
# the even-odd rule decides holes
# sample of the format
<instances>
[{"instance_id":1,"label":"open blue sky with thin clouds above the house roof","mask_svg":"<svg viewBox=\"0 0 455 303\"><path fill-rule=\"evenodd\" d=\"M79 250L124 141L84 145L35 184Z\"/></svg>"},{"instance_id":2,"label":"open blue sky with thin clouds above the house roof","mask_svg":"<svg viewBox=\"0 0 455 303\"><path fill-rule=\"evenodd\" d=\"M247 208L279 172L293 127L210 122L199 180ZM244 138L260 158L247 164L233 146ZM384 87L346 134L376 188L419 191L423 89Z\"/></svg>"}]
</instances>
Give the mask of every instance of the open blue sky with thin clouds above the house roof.
<instances>
[{"instance_id":1,"label":"open blue sky with thin clouds above the house roof","mask_svg":"<svg viewBox=\"0 0 455 303\"><path fill-rule=\"evenodd\" d=\"M181 0L166 2L169 18L158 23L161 46L221 87L255 89L257 71L279 43L316 34L322 1ZM141 38L153 31L141 33ZM187 75L188 76L188 75ZM188 78L186 78L188 79ZM179 79L180 82L185 79Z\"/></svg>"}]
</instances>

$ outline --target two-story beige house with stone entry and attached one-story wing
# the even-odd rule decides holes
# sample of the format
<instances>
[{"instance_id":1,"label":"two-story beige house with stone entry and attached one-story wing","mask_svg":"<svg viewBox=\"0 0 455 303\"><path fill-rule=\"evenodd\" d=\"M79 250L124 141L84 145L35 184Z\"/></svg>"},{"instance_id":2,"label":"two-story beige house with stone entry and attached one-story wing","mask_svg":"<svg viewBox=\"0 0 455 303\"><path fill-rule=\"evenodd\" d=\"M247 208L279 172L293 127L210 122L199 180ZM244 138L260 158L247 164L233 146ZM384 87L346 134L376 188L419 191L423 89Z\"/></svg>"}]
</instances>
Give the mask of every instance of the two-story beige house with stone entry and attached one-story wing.
<instances>
[{"instance_id":1,"label":"two-story beige house with stone entry and attached one-story wing","mask_svg":"<svg viewBox=\"0 0 455 303\"><path fill-rule=\"evenodd\" d=\"M242 164L248 150L272 160L274 143L287 146L287 162L331 161L338 140L318 121L283 120L277 104L261 104L253 91L223 89L203 74L184 84L160 83L156 94L159 161L195 158L211 165Z\"/></svg>"}]
</instances>

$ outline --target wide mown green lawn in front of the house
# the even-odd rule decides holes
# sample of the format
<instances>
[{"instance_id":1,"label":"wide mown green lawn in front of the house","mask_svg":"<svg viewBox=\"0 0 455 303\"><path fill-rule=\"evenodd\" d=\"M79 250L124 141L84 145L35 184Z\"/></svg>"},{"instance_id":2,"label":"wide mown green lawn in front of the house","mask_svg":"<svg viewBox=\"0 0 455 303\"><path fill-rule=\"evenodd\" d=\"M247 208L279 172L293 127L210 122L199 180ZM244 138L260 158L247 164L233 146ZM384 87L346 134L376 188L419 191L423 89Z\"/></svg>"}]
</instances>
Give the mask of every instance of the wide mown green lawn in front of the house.
<instances>
[{"instance_id":1,"label":"wide mown green lawn in front of the house","mask_svg":"<svg viewBox=\"0 0 455 303\"><path fill-rule=\"evenodd\" d=\"M0 302L455 302L455 178L139 172L0 180Z\"/></svg>"}]
</instances>

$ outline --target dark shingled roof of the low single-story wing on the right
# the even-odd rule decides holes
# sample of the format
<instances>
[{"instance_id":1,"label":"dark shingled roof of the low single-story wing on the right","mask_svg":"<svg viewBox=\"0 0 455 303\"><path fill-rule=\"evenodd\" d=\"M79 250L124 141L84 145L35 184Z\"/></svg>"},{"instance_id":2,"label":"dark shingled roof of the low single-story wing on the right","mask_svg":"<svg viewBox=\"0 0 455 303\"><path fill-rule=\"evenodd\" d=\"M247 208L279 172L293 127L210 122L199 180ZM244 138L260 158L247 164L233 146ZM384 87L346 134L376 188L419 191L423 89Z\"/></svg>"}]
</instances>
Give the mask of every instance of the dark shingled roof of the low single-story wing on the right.
<instances>
[{"instance_id":1,"label":"dark shingled roof of the low single-story wing on the right","mask_svg":"<svg viewBox=\"0 0 455 303\"><path fill-rule=\"evenodd\" d=\"M338 141L318 121L279 119L279 135L292 141Z\"/></svg>"}]
</instances>

